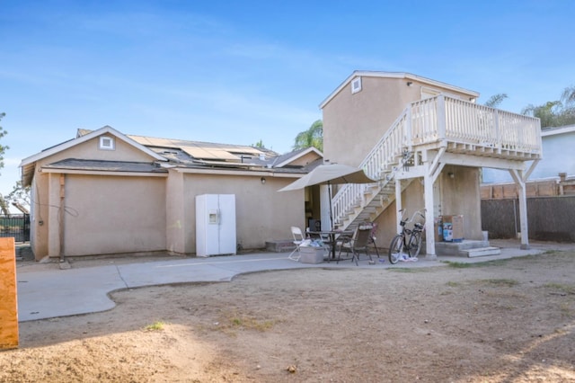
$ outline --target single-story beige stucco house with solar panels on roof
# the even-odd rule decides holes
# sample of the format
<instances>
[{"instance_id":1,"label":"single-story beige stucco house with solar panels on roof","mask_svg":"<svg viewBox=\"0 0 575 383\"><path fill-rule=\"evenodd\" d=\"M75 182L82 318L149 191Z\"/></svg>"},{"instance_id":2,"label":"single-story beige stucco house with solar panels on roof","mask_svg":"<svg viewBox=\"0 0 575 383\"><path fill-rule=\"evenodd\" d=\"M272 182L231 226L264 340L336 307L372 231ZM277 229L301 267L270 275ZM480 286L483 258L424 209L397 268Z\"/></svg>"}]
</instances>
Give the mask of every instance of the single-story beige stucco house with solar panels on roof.
<instances>
[{"instance_id":1,"label":"single-story beige stucco house with solar panels on roof","mask_svg":"<svg viewBox=\"0 0 575 383\"><path fill-rule=\"evenodd\" d=\"M314 148L270 150L125 135L111 127L22 160L37 260L93 254L195 254L195 197L234 194L238 249L305 226L305 191L277 191L321 163ZM309 198L307 198L309 200Z\"/></svg>"}]
</instances>

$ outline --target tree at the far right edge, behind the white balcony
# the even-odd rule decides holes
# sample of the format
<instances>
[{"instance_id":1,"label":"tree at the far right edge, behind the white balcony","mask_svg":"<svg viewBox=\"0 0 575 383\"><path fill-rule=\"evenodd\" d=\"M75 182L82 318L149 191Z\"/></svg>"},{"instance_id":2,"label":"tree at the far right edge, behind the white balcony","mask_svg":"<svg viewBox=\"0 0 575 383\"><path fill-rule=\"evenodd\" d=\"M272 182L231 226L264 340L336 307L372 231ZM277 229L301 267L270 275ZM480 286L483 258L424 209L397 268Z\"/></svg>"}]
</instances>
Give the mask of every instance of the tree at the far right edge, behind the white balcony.
<instances>
[{"instance_id":1,"label":"tree at the far right edge, behind the white balcony","mask_svg":"<svg viewBox=\"0 0 575 383\"><path fill-rule=\"evenodd\" d=\"M548 101L543 105L529 104L521 114L537 117L542 128L575 124L575 85L566 87L560 100Z\"/></svg>"}]
</instances>

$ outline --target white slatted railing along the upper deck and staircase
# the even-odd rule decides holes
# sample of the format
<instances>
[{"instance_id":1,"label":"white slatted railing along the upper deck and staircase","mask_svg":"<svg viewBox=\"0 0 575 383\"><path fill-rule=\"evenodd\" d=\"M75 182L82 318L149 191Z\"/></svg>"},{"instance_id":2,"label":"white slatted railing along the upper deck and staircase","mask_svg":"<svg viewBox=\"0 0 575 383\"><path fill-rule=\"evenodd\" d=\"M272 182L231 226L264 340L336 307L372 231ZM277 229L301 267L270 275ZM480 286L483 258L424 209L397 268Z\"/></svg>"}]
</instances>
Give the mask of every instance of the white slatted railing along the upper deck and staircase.
<instances>
[{"instance_id":1,"label":"white slatted railing along the upper deck and staircase","mask_svg":"<svg viewBox=\"0 0 575 383\"><path fill-rule=\"evenodd\" d=\"M413 147L449 142L468 144L495 153L541 155L538 119L438 95L411 102L359 165L385 186L394 176L394 166L404 151ZM333 218L340 221L352 207L365 206L366 190L374 185L342 185L332 200Z\"/></svg>"}]
</instances>

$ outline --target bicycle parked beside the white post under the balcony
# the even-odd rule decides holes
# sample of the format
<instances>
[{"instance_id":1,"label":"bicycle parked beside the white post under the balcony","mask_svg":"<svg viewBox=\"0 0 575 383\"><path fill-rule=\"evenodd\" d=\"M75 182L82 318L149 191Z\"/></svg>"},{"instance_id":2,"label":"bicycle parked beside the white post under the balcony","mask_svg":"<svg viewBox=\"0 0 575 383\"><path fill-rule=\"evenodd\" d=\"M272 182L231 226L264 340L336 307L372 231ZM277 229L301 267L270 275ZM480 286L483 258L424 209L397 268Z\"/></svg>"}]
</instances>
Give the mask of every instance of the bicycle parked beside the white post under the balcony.
<instances>
[{"instance_id":1,"label":"bicycle parked beside the white post under the balcony","mask_svg":"<svg viewBox=\"0 0 575 383\"><path fill-rule=\"evenodd\" d=\"M399 212L402 213L400 220L402 232L394 236L394 239L392 239L389 245L389 263L395 264L400 259L405 261L417 260L417 256L420 254L423 230L425 228L425 215L421 211L425 212L425 209L417 210L411 218L406 219L404 218L405 209L399 210ZM416 222L411 229L405 227L405 225L413 221L416 216L423 218L423 223ZM403 253L404 250L407 251L406 254Z\"/></svg>"}]
</instances>

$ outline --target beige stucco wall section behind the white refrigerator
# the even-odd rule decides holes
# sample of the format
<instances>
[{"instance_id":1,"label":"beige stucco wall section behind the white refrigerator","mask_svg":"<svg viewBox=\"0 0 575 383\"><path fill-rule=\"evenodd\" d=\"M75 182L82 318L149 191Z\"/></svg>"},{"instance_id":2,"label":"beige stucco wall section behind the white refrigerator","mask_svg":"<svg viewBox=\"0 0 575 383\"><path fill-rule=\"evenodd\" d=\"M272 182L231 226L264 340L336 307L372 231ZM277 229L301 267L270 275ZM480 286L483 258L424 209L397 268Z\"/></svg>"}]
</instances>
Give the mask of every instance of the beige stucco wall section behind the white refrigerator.
<instances>
[{"instance_id":1,"label":"beige stucco wall section behind the white refrigerator","mask_svg":"<svg viewBox=\"0 0 575 383\"><path fill-rule=\"evenodd\" d=\"M236 240L242 249L263 248L266 241L290 238L290 226L305 227L304 191L278 192L295 179L265 178L266 183L261 183L261 175L184 174L183 200L173 203L168 213L168 245L176 253L196 253L195 198L200 194L235 194ZM177 187L170 190L177 193ZM176 205L182 206L181 214Z\"/></svg>"}]
</instances>

